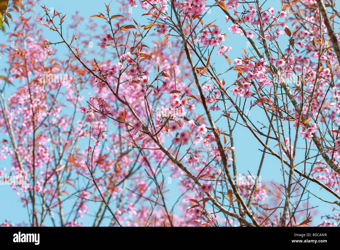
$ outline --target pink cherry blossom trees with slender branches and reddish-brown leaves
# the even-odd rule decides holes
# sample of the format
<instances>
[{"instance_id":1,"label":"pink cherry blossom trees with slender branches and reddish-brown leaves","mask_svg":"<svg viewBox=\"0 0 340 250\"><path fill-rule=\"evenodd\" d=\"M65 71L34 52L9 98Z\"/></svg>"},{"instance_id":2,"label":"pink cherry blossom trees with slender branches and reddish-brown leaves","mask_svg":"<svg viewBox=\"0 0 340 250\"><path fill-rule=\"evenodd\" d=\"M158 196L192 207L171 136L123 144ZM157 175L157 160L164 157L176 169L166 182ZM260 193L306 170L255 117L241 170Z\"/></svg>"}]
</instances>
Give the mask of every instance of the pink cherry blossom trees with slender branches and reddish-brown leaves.
<instances>
[{"instance_id":1,"label":"pink cherry blossom trees with slender branches and reddish-brown leaves","mask_svg":"<svg viewBox=\"0 0 340 250\"><path fill-rule=\"evenodd\" d=\"M8 5L0 44L0 176L29 225L339 226L336 2L122 0L69 23L43 2Z\"/></svg>"}]
</instances>

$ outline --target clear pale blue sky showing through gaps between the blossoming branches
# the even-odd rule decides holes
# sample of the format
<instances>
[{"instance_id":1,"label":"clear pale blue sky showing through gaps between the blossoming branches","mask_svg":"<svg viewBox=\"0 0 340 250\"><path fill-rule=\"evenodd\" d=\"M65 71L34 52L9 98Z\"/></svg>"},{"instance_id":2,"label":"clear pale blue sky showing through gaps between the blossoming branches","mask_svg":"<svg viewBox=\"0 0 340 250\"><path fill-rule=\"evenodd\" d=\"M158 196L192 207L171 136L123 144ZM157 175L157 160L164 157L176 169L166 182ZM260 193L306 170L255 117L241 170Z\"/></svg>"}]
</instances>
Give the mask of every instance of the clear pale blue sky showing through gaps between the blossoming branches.
<instances>
[{"instance_id":1,"label":"clear pale blue sky showing through gaps between the blossoming branches","mask_svg":"<svg viewBox=\"0 0 340 250\"><path fill-rule=\"evenodd\" d=\"M263 2L263 1L260 1ZM90 16L98 14L98 11L104 13L105 11L105 5L102 1L90 1L90 0L46 0L46 1L39 1L41 5L45 4L48 9L54 8L57 12L62 12L63 14L67 14L65 18L65 24L70 24L70 18L71 15L73 15L76 11L79 12L79 15L82 16L85 19L88 19ZM108 3L107 1L105 3ZM212 3L212 1L208 1L208 3ZM275 0L275 1L267 1L264 5L263 8L268 10L268 7L274 7L274 10L279 10L280 9L280 0ZM111 3L111 11L114 13L115 8L118 7L119 3L112 1ZM37 14L42 14L43 11L41 7L36 4L36 10ZM144 13L144 10L142 10L140 7L133 8L133 18L137 21L140 22L141 24L148 24L147 18L141 17L141 15ZM115 13L115 14L120 14ZM40 17L40 16L39 16ZM13 19L15 19L15 15L13 15ZM34 18L36 19L36 18ZM226 23L224 14L218 10L217 8L213 8L210 10L210 14L206 14L204 17L204 22L207 23L209 21L214 21L217 19L217 25L222 29L222 33L226 33L227 28L230 27L231 22ZM99 35L102 35L102 32L100 32L100 26L104 24L104 20L97 18L95 21L98 23L99 28L97 31L99 32ZM45 22L44 22L45 23ZM10 25L10 29L6 27L6 32L11 31L14 27L14 24ZM39 27L40 28L40 27ZM68 34L71 36L72 35L72 30L68 29ZM56 36L55 33L49 31L47 28L44 29L44 35L46 39L56 42L59 41L60 38ZM159 36L159 41L163 40L164 36ZM280 44L285 44L287 43L287 36L282 36L281 41L279 40ZM148 45L150 43L151 45L151 39L146 39L144 40L145 44ZM250 48L250 46L247 46L247 41L244 36L239 36L239 35L232 35L231 37L226 37L225 38L225 44L227 46L231 46L233 49L230 52L227 52L227 56L231 59L232 63L236 57L239 57L243 53L243 49L245 49L247 52L250 54L253 54L254 52ZM0 33L0 43L7 44L8 46L11 46L10 41L7 41L7 38L3 36L3 33ZM99 47L99 41L94 41L94 49L100 50ZM152 45L151 45L152 46ZM149 46L149 47L151 47ZM52 47L53 49L56 49L58 51L58 55L60 54L66 54L68 53L68 50L65 48L64 45L59 45L56 47ZM217 50L216 50L217 52ZM100 60L100 58L97 58L97 60ZM4 67L6 67L6 61L7 58L1 58L0 59L0 70ZM216 55L216 53L213 53L212 58L210 59L210 62L215 62L215 66L217 68L217 72L223 71L225 68L229 68L229 65L227 64L225 58L221 55ZM228 73L226 76L224 76L224 79L226 81L226 86L231 85L234 83L236 79L237 73ZM10 90L10 89L8 89ZM10 91L6 91L6 96L10 93ZM84 95L84 102L87 100L87 93L83 93ZM67 109L64 109L63 112L68 112ZM216 114L216 113L215 113ZM252 109L250 111L250 116L258 116L257 120L261 120L263 117L262 112L257 113L256 109ZM220 124L223 124L220 123ZM226 123L223 124L225 130L227 129L227 126L225 125ZM219 126L219 125L218 125ZM267 131L266 131L267 132ZM4 138L4 135L0 135L0 139ZM252 134L249 132L248 129L243 128L241 126L237 126L237 128L234 131L234 142L235 142L235 153L236 153L236 163L237 163L237 169L238 173L241 174L247 174L247 171L250 171L253 173L253 175L256 175L257 168L260 163L261 159L261 154L262 152L259 151L258 149L263 149L263 147L260 145L260 143L256 140L253 139ZM274 146L274 145L270 145ZM278 152L279 149L278 147L274 148L275 152ZM299 162L299 160L296 160ZM3 167L6 167L7 169L10 169L10 159L7 160L2 160L0 161L0 169ZM264 181L270 183L271 181L273 182L280 182L282 183L282 174L280 173L281 165L280 162L274 157L267 155L265 157L265 161L262 166L261 170L261 179L262 179L262 185L265 184ZM286 169L287 170L287 169ZM301 170L301 168L300 168ZM169 194L167 196L168 201L172 205L178 198L179 196L179 191L177 188L176 183L178 181L173 180L172 184L167 184L165 189L169 189ZM320 190L318 185L314 185L311 183L309 185L309 189L313 191L314 194L318 196L322 196L323 199L329 200L329 201L334 201L333 196L328 195L327 192L324 190ZM22 203L19 201L20 196L16 196L10 186L5 186L2 185L0 186L0 224L7 219L7 221L13 222L15 224L20 223L22 221L27 222L27 210L26 208L23 207ZM332 212L332 205L325 203L325 202L320 202L317 198L311 197L310 198L311 205L318 205L318 211L319 214L313 215L313 219L311 224L316 226L320 223L322 223L322 220L320 218L321 215L325 214L330 214ZM264 202L266 203L266 202ZM90 214L91 212L97 211L97 205L93 204L90 207ZM91 223L93 223L94 218L91 216L85 216L82 221L85 223L86 226L90 226ZM49 221L46 220L46 224L49 225ZM105 223L103 224L105 225Z\"/></svg>"}]
</instances>

